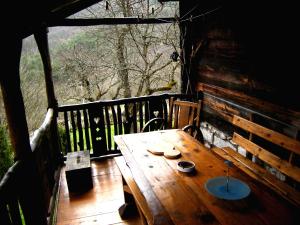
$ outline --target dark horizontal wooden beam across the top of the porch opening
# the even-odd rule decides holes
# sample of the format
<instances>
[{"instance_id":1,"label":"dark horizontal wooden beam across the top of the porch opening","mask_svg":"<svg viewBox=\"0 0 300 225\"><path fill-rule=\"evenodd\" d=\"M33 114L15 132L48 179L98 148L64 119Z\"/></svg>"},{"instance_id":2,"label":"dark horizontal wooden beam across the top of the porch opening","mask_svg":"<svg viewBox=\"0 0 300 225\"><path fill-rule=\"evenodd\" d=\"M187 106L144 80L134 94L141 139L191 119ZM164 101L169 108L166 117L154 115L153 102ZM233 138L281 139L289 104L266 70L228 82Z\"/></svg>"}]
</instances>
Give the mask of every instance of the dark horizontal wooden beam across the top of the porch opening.
<instances>
[{"instance_id":1,"label":"dark horizontal wooden beam across the top of the porch opening","mask_svg":"<svg viewBox=\"0 0 300 225\"><path fill-rule=\"evenodd\" d=\"M96 18L96 19L61 19L54 20L47 24L49 27L53 26L96 26L96 25L120 25L120 24L161 24L174 23L176 19L168 18L138 18L138 17L124 17L124 18Z\"/></svg>"}]
</instances>

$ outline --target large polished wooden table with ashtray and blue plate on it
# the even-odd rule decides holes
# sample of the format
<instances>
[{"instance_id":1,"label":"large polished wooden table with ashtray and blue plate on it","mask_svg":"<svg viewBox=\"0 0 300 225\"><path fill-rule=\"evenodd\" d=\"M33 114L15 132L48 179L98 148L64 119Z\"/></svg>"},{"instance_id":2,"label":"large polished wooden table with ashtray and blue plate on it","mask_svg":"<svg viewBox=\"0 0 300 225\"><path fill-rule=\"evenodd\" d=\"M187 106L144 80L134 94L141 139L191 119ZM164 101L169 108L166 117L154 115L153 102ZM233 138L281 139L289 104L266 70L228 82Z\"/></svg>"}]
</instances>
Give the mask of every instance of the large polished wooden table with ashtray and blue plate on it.
<instances>
[{"instance_id":1,"label":"large polished wooden table with ashtray and blue plate on it","mask_svg":"<svg viewBox=\"0 0 300 225\"><path fill-rule=\"evenodd\" d=\"M251 194L230 201L210 195L204 184L226 175L224 160L181 130L115 136L124 163L117 164L148 224L300 224L300 210L237 167L230 176L249 185ZM166 159L147 149L175 146L182 156ZM192 174L177 170L179 160L192 160ZM128 172L129 171L129 172Z\"/></svg>"}]
</instances>

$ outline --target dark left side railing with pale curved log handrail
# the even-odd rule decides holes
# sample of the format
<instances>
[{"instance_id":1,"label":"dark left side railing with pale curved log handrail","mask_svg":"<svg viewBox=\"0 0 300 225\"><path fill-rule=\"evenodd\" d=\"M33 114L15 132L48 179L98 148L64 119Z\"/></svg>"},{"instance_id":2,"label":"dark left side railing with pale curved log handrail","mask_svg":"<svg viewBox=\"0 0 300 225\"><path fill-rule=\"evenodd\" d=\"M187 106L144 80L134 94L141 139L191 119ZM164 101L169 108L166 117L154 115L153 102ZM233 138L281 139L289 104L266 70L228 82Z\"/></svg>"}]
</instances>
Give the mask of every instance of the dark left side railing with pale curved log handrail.
<instances>
[{"instance_id":1,"label":"dark left side railing with pale curved log handrail","mask_svg":"<svg viewBox=\"0 0 300 225\"><path fill-rule=\"evenodd\" d=\"M31 138L33 154L19 160L0 183L0 224L52 223L59 175L56 118L49 109Z\"/></svg>"}]
</instances>

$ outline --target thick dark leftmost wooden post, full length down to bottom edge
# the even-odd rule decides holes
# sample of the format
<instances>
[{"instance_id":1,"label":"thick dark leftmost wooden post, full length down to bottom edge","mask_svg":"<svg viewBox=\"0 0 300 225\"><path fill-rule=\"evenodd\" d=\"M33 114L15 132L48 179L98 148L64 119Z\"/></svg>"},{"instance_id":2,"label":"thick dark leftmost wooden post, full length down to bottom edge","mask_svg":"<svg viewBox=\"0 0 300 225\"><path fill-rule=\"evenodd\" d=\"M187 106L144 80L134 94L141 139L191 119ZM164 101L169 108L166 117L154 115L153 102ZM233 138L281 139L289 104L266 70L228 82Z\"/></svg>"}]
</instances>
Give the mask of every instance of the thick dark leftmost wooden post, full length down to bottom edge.
<instances>
[{"instance_id":1,"label":"thick dark leftmost wooden post, full length down to bottom edge","mask_svg":"<svg viewBox=\"0 0 300 225\"><path fill-rule=\"evenodd\" d=\"M46 225L45 201L41 179L37 172L34 156L30 146L29 132L26 121L25 106L20 87L20 57L22 39L11 37L5 42L6 76L0 77L6 118L10 140L15 152L15 159L24 165L21 174L16 177L18 198L23 210L26 224Z\"/></svg>"}]
</instances>

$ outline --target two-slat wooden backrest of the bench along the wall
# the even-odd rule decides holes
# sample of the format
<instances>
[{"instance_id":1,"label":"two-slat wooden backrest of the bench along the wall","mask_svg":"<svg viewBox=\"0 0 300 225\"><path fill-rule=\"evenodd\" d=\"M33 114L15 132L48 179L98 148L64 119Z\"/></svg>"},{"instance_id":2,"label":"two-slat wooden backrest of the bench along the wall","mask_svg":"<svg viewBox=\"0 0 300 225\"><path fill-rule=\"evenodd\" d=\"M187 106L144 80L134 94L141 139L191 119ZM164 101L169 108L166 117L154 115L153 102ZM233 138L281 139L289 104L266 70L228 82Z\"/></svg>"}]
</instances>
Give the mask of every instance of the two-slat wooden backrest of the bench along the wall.
<instances>
[{"instance_id":1,"label":"two-slat wooden backrest of the bench along the wall","mask_svg":"<svg viewBox=\"0 0 300 225\"><path fill-rule=\"evenodd\" d=\"M300 156L299 141L239 116L233 117L233 124L288 151L288 159L283 159L240 134L233 134L232 140L236 144L253 154L253 156L269 164L271 167L277 169L295 181L300 182L300 168L293 164L293 158L296 155Z\"/></svg>"}]
</instances>

